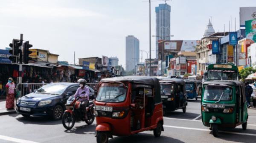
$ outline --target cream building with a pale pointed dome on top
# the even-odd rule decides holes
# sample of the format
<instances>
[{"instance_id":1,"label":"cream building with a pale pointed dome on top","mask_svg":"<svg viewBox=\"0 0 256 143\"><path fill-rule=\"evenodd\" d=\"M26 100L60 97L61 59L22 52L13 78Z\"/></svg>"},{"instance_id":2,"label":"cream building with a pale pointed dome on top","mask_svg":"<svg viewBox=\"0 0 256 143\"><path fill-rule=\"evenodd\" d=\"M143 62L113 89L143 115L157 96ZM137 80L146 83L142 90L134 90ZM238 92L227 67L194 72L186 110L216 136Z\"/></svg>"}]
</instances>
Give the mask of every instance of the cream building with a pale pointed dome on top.
<instances>
[{"instance_id":1,"label":"cream building with a pale pointed dome on top","mask_svg":"<svg viewBox=\"0 0 256 143\"><path fill-rule=\"evenodd\" d=\"M221 37L228 35L228 32L217 32L212 26L211 21L207 25L204 31L204 36L197 45L195 52L197 57L197 74L203 75L207 71L209 64L216 64L220 61L220 57L217 54L212 54L212 40L218 40Z\"/></svg>"}]
</instances>

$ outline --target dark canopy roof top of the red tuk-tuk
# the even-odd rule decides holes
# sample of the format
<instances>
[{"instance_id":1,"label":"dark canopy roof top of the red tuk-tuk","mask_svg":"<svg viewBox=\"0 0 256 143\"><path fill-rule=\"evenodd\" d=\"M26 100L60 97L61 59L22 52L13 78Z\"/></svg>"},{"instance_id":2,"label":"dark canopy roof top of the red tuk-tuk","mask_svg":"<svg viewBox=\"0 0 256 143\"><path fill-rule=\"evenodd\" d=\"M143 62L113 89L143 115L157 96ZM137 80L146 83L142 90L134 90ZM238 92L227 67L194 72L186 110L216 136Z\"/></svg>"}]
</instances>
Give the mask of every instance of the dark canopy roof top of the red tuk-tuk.
<instances>
[{"instance_id":1,"label":"dark canopy roof top of the red tuk-tuk","mask_svg":"<svg viewBox=\"0 0 256 143\"><path fill-rule=\"evenodd\" d=\"M128 81L128 82L133 82L137 84L148 84L148 85L155 85L158 83L158 79L155 77L151 76L120 76L120 77L113 77L113 78L107 78L107 79L102 79L101 81L109 81L109 82L114 82L114 81Z\"/></svg>"}]
</instances>

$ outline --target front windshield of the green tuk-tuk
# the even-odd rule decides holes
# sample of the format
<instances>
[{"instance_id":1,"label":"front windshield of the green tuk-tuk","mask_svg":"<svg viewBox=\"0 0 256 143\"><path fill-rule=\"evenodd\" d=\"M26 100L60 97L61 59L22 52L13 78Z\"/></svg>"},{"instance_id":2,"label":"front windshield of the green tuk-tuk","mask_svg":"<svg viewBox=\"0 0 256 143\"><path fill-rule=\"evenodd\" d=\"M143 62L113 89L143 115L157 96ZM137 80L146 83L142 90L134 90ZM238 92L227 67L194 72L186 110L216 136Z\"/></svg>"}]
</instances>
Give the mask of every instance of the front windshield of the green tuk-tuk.
<instances>
[{"instance_id":1,"label":"front windshield of the green tuk-tuk","mask_svg":"<svg viewBox=\"0 0 256 143\"><path fill-rule=\"evenodd\" d=\"M232 87L207 85L204 90L204 100L230 101L232 100Z\"/></svg>"}]
</instances>

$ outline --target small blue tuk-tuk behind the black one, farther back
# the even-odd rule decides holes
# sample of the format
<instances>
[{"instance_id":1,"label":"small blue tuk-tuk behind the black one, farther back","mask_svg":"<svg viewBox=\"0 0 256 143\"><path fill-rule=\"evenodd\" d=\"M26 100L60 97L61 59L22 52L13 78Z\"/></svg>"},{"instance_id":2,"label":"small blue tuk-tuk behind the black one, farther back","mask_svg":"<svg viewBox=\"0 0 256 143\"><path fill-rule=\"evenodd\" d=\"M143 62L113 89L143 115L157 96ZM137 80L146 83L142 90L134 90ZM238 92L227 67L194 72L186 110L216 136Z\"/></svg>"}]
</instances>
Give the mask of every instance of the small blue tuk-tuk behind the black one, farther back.
<instances>
[{"instance_id":1,"label":"small blue tuk-tuk behind the black one, farther back","mask_svg":"<svg viewBox=\"0 0 256 143\"><path fill-rule=\"evenodd\" d=\"M195 81L185 80L186 83L186 96L187 99L194 99L198 100L197 95L197 84Z\"/></svg>"}]
</instances>

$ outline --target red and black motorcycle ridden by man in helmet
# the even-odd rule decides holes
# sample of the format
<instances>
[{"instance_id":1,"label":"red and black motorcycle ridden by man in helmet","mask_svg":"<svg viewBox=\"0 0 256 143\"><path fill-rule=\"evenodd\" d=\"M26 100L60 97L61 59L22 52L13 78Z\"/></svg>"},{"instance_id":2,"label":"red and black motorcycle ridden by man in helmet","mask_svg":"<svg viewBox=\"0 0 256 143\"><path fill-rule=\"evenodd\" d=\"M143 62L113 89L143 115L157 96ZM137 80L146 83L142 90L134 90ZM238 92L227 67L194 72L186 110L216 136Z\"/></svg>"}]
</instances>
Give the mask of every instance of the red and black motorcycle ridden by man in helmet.
<instances>
[{"instance_id":1,"label":"red and black motorcycle ridden by man in helmet","mask_svg":"<svg viewBox=\"0 0 256 143\"><path fill-rule=\"evenodd\" d=\"M66 110L62 116L62 124L66 129L72 129L75 122L85 121L88 125L92 124L95 116L93 115L93 101L89 101L86 107L87 119L84 117L84 112L80 108L81 101L79 97L75 98L74 95L70 96L67 100Z\"/></svg>"}]
</instances>

